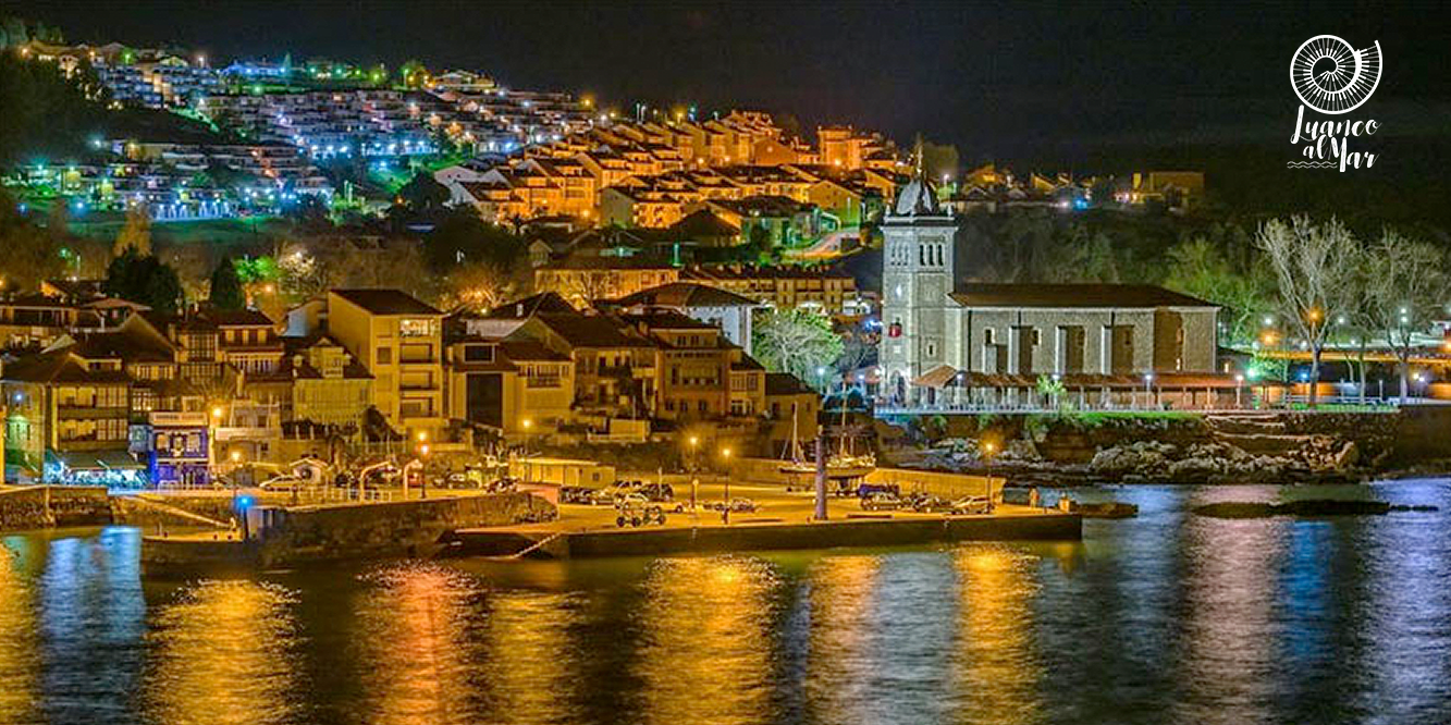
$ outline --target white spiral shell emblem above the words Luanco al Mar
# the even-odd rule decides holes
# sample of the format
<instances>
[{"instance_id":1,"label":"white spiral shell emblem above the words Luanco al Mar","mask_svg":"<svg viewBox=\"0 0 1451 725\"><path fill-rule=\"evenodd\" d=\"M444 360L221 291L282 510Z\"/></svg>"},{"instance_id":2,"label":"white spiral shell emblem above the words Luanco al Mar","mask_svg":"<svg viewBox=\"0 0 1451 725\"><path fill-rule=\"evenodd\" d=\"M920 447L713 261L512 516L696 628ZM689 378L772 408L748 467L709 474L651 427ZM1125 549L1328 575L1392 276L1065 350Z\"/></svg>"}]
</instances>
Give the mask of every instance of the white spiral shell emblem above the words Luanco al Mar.
<instances>
[{"instance_id":1,"label":"white spiral shell emblem above the words Luanco al Mar","mask_svg":"<svg viewBox=\"0 0 1451 725\"><path fill-rule=\"evenodd\" d=\"M1380 41L1357 51L1333 35L1316 35L1290 59L1294 94L1320 113L1349 113L1365 103L1378 84Z\"/></svg>"}]
</instances>

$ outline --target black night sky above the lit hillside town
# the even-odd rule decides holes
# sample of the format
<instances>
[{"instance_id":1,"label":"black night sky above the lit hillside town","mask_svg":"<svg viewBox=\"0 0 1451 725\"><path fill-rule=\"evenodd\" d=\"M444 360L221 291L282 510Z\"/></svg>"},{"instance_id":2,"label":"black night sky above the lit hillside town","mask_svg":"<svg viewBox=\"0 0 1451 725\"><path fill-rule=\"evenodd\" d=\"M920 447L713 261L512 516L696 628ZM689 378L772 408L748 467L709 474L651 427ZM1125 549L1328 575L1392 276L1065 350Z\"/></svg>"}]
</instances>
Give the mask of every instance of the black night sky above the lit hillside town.
<instances>
[{"instance_id":1,"label":"black night sky above the lit hillside town","mask_svg":"<svg viewBox=\"0 0 1451 725\"><path fill-rule=\"evenodd\" d=\"M1294 49L1380 41L1364 106L1387 133L1451 129L1451 25L1436 4L1338 3L237 3L0 0L70 41L212 57L469 67L630 107L696 103L956 144L965 161L1072 161L1122 144L1288 145ZM1283 136L1283 138L1281 138Z\"/></svg>"}]
</instances>

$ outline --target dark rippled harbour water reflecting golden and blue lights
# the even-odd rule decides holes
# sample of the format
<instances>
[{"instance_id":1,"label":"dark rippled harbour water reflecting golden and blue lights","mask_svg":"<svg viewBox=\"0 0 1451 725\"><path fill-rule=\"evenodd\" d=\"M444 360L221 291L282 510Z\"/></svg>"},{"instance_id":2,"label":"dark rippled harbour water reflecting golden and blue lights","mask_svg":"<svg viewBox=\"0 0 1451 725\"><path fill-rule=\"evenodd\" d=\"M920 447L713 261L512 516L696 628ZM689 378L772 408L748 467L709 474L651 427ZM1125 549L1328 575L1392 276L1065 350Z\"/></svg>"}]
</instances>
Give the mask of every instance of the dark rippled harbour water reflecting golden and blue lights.
<instances>
[{"instance_id":1,"label":"dark rippled harbour water reflecting golden and blue lights","mask_svg":"<svg viewBox=\"0 0 1451 725\"><path fill-rule=\"evenodd\" d=\"M1214 521L1210 500L1436 513ZM1125 487L1082 544L139 576L3 536L0 725L1451 721L1451 481Z\"/></svg>"}]
</instances>

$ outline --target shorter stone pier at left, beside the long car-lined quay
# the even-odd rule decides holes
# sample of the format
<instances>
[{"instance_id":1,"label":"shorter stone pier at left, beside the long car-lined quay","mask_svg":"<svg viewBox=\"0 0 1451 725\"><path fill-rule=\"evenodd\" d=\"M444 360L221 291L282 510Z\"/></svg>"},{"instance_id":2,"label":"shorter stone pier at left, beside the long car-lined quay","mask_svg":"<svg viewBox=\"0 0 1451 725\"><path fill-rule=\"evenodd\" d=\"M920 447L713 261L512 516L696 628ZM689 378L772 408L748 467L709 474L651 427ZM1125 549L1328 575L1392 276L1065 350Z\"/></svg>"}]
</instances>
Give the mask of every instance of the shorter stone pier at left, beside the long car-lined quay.
<instances>
[{"instance_id":1,"label":"shorter stone pier at left, beside the long car-lined quay","mask_svg":"<svg viewBox=\"0 0 1451 725\"><path fill-rule=\"evenodd\" d=\"M445 534L474 526L551 521L554 506L527 493L425 500L255 506L235 538L221 532L142 539L148 574L213 568L281 568L347 560L431 557Z\"/></svg>"}]
</instances>

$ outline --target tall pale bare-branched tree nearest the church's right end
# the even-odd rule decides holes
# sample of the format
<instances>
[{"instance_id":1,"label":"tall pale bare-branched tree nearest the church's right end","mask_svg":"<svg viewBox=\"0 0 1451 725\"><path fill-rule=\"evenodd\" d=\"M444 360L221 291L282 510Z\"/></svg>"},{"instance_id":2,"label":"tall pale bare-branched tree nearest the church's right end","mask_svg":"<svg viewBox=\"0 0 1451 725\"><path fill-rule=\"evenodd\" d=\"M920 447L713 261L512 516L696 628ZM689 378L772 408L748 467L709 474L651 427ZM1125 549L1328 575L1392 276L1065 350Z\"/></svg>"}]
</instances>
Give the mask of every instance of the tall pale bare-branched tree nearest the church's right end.
<instances>
[{"instance_id":1,"label":"tall pale bare-branched tree nearest the church's right end","mask_svg":"<svg viewBox=\"0 0 1451 725\"><path fill-rule=\"evenodd\" d=\"M1310 352L1310 405L1316 403L1320 355L1332 320L1351 312L1360 244L1336 219L1323 223L1307 216L1290 222L1271 219L1259 226L1255 245L1264 252L1278 283L1277 303L1288 331Z\"/></svg>"}]
</instances>

